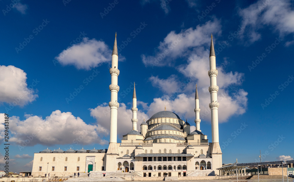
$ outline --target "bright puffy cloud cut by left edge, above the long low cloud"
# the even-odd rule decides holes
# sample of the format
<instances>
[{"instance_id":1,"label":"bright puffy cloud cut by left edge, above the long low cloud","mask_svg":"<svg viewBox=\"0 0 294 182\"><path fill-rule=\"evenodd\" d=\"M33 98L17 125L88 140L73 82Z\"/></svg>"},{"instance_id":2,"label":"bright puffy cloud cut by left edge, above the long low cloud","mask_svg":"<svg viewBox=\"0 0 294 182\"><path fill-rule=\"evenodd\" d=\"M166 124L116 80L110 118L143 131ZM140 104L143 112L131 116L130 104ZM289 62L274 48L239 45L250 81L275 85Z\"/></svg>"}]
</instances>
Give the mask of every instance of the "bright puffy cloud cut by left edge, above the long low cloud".
<instances>
[{"instance_id":1,"label":"bright puffy cloud cut by left edge, above the long low cloud","mask_svg":"<svg viewBox=\"0 0 294 182\"><path fill-rule=\"evenodd\" d=\"M38 97L33 90L35 85L28 86L26 79L26 73L22 69L11 65L0 66L0 103L10 103L12 107L34 101Z\"/></svg>"}]
</instances>

